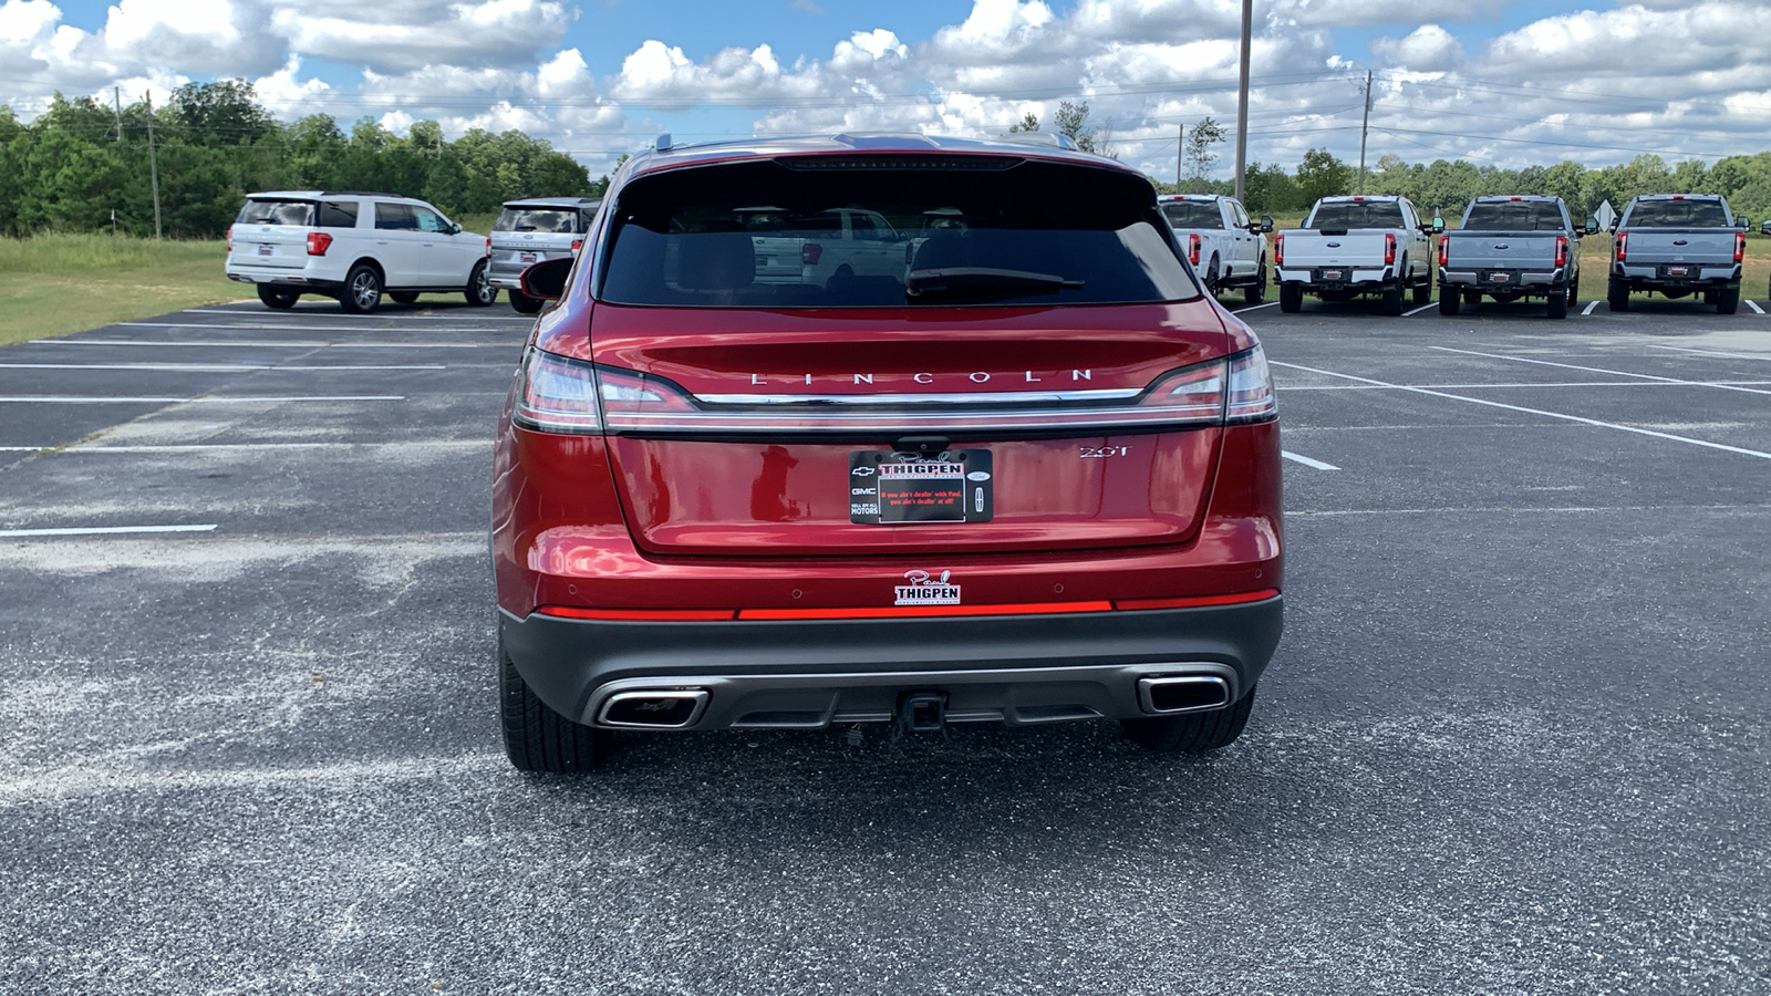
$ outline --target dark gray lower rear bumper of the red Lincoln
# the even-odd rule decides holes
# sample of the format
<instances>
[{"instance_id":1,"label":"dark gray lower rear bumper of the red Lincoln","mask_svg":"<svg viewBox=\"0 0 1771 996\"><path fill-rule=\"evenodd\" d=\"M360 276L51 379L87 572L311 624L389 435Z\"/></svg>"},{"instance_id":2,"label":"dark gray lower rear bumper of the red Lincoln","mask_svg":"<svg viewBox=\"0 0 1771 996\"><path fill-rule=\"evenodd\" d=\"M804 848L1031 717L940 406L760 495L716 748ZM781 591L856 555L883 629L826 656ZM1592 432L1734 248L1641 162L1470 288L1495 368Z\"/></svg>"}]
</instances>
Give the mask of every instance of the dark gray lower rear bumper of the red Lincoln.
<instances>
[{"instance_id":1,"label":"dark gray lower rear bumper of the red Lincoln","mask_svg":"<svg viewBox=\"0 0 1771 996\"><path fill-rule=\"evenodd\" d=\"M615 695L700 689L673 728L891 720L903 693L935 691L947 721L1156 714L1141 682L1220 677L1241 698L1273 656L1282 599L1047 617L746 622L577 620L499 610L505 652L551 709L599 723Z\"/></svg>"}]
</instances>

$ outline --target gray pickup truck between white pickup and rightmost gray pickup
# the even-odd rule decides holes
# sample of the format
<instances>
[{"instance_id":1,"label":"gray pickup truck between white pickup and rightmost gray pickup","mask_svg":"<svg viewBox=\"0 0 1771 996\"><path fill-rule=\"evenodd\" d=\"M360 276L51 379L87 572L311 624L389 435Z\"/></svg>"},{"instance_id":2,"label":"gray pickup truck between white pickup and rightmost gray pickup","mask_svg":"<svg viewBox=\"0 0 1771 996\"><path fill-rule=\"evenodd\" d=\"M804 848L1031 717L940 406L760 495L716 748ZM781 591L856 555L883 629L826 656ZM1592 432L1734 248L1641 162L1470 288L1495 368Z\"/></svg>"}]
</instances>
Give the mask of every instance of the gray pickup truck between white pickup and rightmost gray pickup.
<instances>
[{"instance_id":1,"label":"gray pickup truck between white pickup and rightmost gray pickup","mask_svg":"<svg viewBox=\"0 0 1771 996\"><path fill-rule=\"evenodd\" d=\"M1560 197L1477 197L1456 230L1440 236L1440 314L1454 315L1484 294L1507 303L1546 298L1550 317L1567 317L1580 298L1580 237Z\"/></svg>"}]
</instances>

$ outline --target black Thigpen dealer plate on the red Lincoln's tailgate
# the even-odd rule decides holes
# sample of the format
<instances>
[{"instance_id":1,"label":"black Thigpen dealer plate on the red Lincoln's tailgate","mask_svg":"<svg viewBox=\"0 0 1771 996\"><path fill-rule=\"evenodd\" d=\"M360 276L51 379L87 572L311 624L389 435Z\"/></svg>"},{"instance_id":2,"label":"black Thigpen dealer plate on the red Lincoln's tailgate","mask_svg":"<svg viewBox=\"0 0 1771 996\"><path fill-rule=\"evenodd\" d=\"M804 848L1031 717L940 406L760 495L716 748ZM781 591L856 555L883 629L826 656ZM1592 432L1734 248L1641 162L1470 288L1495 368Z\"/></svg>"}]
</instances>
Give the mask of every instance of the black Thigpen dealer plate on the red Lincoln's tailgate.
<instances>
[{"instance_id":1,"label":"black Thigpen dealer plate on the red Lincoln's tailgate","mask_svg":"<svg viewBox=\"0 0 1771 996\"><path fill-rule=\"evenodd\" d=\"M994 491L990 450L848 454L850 523L988 523Z\"/></svg>"}]
</instances>

